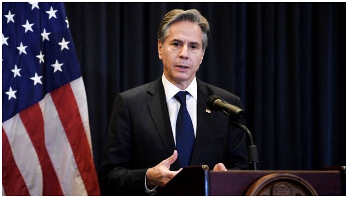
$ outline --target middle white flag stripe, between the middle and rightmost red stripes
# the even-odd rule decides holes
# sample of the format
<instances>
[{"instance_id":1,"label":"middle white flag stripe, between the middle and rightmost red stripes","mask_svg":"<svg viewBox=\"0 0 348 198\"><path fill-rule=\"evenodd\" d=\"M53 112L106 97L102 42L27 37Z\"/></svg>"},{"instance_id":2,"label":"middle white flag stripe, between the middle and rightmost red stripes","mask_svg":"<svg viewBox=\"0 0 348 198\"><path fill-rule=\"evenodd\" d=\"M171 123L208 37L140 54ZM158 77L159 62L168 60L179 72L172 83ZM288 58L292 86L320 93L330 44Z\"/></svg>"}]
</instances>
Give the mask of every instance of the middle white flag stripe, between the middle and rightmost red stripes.
<instances>
[{"instance_id":1,"label":"middle white flag stripe, between the middle and rightmost red stripes","mask_svg":"<svg viewBox=\"0 0 348 198\"><path fill-rule=\"evenodd\" d=\"M45 126L45 145L65 196L87 196L74 153L50 94L39 102Z\"/></svg>"}]
</instances>

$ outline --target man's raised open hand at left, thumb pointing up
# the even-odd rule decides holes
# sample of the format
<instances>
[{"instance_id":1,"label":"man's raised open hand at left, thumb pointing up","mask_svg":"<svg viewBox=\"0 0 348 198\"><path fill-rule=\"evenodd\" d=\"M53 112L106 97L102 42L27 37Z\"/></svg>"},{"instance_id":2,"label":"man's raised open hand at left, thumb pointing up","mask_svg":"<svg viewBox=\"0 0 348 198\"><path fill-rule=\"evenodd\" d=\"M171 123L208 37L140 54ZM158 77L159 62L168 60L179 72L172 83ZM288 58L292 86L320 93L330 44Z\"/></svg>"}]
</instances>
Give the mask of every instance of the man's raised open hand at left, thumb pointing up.
<instances>
[{"instance_id":1,"label":"man's raised open hand at left, thumb pointing up","mask_svg":"<svg viewBox=\"0 0 348 198\"><path fill-rule=\"evenodd\" d=\"M156 165L153 168L149 168L146 175L146 185L150 186L164 186L167 184L180 170L170 171L171 165L177 158L177 151L174 150L174 153L169 158L163 160L161 163Z\"/></svg>"}]
</instances>

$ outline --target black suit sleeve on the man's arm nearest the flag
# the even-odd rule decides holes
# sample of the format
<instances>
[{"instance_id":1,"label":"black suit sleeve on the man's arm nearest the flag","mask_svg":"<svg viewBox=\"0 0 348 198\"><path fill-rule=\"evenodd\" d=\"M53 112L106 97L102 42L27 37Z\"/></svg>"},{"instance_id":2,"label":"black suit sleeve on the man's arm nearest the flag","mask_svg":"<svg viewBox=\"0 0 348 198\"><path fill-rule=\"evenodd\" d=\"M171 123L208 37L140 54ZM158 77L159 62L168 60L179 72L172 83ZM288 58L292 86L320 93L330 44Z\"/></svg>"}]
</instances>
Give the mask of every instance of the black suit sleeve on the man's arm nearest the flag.
<instances>
[{"instance_id":1,"label":"black suit sleeve on the man's arm nearest the flag","mask_svg":"<svg viewBox=\"0 0 348 198\"><path fill-rule=\"evenodd\" d=\"M147 169L132 169L132 133L126 100L118 94L112 110L106 148L99 172L103 195L147 195Z\"/></svg>"}]
</instances>

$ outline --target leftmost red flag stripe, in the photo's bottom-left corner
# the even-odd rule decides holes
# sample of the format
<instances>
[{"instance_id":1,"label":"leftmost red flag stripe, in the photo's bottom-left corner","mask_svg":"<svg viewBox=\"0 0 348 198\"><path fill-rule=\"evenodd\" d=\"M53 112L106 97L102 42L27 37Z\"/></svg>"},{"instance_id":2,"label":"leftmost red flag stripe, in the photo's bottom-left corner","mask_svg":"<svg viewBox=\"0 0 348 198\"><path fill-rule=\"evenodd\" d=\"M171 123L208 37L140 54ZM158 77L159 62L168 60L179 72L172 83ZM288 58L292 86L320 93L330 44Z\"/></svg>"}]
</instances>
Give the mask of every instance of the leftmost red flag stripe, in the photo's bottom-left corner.
<instances>
[{"instance_id":1,"label":"leftmost red flag stripe, in the photo's bottom-left corner","mask_svg":"<svg viewBox=\"0 0 348 198\"><path fill-rule=\"evenodd\" d=\"M2 128L2 186L6 196L30 196Z\"/></svg>"}]
</instances>

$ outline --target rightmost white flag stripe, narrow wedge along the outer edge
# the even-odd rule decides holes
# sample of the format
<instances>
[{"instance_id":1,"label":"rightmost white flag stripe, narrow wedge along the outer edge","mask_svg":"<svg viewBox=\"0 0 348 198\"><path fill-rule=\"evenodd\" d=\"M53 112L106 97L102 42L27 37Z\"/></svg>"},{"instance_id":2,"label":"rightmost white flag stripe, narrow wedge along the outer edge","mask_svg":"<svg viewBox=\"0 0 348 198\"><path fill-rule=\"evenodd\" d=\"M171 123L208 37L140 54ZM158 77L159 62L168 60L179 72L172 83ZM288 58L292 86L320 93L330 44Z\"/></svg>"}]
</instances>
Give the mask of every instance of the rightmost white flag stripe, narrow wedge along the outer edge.
<instances>
[{"instance_id":1,"label":"rightmost white flag stripe, narrow wedge along the outer edge","mask_svg":"<svg viewBox=\"0 0 348 198\"><path fill-rule=\"evenodd\" d=\"M72 81L70 83L71 89L73 90L73 94L75 96L76 102L79 107L80 115L82 122L84 124L88 145L90 148L90 152L93 156L92 152L92 142L90 138L90 129L89 129L89 119L88 119L88 107L87 107L87 97L85 92L85 84L82 77Z\"/></svg>"}]
</instances>

